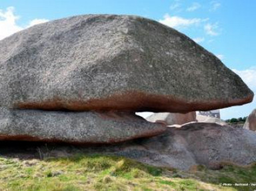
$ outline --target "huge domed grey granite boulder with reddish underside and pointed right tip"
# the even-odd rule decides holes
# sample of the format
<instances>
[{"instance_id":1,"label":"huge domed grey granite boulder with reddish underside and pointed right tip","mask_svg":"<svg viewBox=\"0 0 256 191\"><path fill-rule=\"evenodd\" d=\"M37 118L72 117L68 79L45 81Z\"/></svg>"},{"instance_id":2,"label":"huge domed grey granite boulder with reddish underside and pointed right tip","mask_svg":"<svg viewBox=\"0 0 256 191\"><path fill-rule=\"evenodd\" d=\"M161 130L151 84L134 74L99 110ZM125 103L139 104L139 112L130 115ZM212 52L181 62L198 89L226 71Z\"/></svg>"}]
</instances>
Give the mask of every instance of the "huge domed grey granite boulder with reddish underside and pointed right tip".
<instances>
[{"instance_id":1,"label":"huge domed grey granite boulder with reddish underside and pointed right tip","mask_svg":"<svg viewBox=\"0 0 256 191\"><path fill-rule=\"evenodd\" d=\"M252 99L213 54L142 17L69 17L0 41L8 108L189 112Z\"/></svg>"}]
</instances>

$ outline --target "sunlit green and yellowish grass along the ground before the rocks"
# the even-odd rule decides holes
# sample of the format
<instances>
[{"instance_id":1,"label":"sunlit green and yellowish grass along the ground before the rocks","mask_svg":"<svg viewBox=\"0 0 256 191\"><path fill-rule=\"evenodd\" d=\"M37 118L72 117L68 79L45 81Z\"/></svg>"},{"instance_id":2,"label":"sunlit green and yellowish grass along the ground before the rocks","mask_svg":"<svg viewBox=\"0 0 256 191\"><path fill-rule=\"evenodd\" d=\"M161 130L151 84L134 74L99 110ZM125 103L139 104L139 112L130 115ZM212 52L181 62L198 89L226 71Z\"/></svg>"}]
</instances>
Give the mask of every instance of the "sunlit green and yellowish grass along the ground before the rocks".
<instances>
[{"instance_id":1,"label":"sunlit green and yellowish grass along the ground before the rocks","mask_svg":"<svg viewBox=\"0 0 256 191\"><path fill-rule=\"evenodd\" d=\"M256 164L223 164L221 170L193 166L189 171L156 168L127 158L77 155L19 160L0 157L0 190L255 190Z\"/></svg>"}]
</instances>

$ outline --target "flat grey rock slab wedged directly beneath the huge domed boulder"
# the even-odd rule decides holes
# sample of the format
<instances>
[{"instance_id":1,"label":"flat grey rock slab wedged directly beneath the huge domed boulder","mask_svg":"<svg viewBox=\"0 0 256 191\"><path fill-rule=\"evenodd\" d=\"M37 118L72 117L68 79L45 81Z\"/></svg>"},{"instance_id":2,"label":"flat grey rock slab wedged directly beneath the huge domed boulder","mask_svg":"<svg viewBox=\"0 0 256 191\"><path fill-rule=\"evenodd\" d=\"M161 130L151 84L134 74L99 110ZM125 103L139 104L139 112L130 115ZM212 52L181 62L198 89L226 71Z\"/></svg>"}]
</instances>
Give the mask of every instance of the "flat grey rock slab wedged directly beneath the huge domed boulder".
<instances>
[{"instance_id":1,"label":"flat grey rock slab wedged directly beneath the huge domed boulder","mask_svg":"<svg viewBox=\"0 0 256 191\"><path fill-rule=\"evenodd\" d=\"M114 143L161 134L166 126L115 112L0 110L0 140Z\"/></svg>"}]
</instances>

